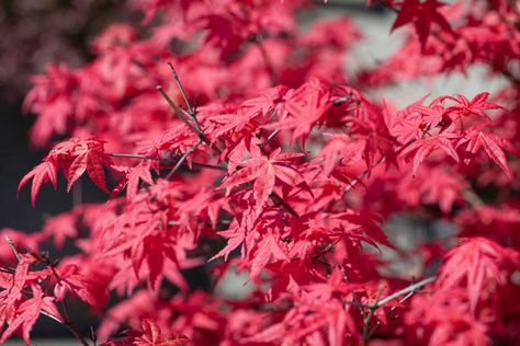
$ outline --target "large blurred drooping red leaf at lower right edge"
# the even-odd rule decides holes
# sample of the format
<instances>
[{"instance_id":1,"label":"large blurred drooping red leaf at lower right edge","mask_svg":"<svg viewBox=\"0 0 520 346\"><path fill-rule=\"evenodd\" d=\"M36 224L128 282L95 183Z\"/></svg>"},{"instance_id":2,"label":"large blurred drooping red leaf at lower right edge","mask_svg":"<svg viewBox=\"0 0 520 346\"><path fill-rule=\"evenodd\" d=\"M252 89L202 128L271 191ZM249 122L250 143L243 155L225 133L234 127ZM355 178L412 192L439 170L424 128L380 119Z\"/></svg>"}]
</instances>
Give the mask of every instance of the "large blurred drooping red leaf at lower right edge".
<instances>
[{"instance_id":1,"label":"large blurred drooping red leaf at lower right edge","mask_svg":"<svg viewBox=\"0 0 520 346\"><path fill-rule=\"evenodd\" d=\"M465 286L472 313L475 313L483 295L493 295L491 282L507 285L504 265L509 263L512 269L518 269L520 265L517 251L502 247L481 237L463 240L460 246L445 255L445 258L437 285L440 289Z\"/></svg>"}]
</instances>

